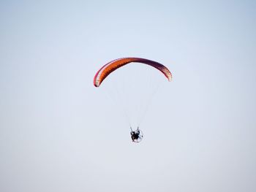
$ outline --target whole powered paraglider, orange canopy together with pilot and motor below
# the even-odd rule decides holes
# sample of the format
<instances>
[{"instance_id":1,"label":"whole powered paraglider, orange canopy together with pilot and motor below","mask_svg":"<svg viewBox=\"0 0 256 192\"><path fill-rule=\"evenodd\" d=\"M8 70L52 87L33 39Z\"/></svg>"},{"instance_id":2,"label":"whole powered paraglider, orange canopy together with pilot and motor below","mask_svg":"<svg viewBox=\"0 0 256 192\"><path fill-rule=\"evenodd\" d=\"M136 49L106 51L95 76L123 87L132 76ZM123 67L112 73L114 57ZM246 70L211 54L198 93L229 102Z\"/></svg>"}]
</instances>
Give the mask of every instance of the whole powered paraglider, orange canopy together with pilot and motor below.
<instances>
[{"instance_id":1,"label":"whole powered paraglider, orange canopy together with pilot and motor below","mask_svg":"<svg viewBox=\"0 0 256 192\"><path fill-rule=\"evenodd\" d=\"M99 87L102 84L103 80L105 80L105 78L108 77L110 73L114 72L116 69L122 66L125 66L131 63L140 63L140 64L146 64L148 66L152 66L155 69L159 70L159 72L162 72L162 74L165 75L168 81L172 80L172 74L170 73L169 69L167 69L166 66L159 64L156 61L148 60L146 58L129 57L129 58L118 58L102 66L94 75L94 86ZM132 127L130 128L131 128L130 134L131 134L132 142L140 142L141 139L143 139L142 131L139 128L137 128L136 131L132 131Z\"/></svg>"}]
</instances>

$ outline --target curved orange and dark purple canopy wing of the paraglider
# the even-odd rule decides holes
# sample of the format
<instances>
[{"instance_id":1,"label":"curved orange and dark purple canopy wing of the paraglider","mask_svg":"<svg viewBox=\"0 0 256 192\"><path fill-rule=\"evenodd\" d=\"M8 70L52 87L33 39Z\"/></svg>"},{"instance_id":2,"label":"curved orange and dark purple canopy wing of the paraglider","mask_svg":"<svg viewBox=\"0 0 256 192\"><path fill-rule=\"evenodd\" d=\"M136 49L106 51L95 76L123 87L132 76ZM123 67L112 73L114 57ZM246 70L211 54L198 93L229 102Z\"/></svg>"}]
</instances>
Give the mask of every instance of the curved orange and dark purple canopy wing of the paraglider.
<instances>
[{"instance_id":1,"label":"curved orange and dark purple canopy wing of the paraglider","mask_svg":"<svg viewBox=\"0 0 256 192\"><path fill-rule=\"evenodd\" d=\"M99 87L102 81L105 80L105 78L108 77L108 75L111 72L115 71L121 66L124 66L132 62L153 66L154 68L158 69L160 72L165 74L167 80L170 81L172 79L172 74L170 73L169 69L167 69L166 66L157 63L156 61L151 61L146 58L118 58L113 61L110 61L108 64L105 64L104 66L102 66L102 68L99 69L99 71L94 76L94 86Z\"/></svg>"}]
</instances>

